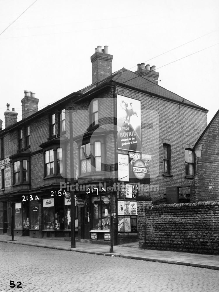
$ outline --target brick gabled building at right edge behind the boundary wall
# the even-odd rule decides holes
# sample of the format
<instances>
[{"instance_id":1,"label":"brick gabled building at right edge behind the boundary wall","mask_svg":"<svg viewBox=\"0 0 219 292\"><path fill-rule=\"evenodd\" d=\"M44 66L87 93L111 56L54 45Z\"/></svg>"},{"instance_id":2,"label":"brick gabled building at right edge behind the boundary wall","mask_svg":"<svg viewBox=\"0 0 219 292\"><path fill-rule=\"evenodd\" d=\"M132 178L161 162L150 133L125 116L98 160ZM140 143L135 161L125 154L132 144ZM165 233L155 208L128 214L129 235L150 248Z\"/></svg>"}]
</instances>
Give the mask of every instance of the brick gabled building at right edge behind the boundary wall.
<instances>
[{"instance_id":1,"label":"brick gabled building at right edge behind the boundary wall","mask_svg":"<svg viewBox=\"0 0 219 292\"><path fill-rule=\"evenodd\" d=\"M219 200L219 110L205 128L194 147L194 201Z\"/></svg>"}]
</instances>

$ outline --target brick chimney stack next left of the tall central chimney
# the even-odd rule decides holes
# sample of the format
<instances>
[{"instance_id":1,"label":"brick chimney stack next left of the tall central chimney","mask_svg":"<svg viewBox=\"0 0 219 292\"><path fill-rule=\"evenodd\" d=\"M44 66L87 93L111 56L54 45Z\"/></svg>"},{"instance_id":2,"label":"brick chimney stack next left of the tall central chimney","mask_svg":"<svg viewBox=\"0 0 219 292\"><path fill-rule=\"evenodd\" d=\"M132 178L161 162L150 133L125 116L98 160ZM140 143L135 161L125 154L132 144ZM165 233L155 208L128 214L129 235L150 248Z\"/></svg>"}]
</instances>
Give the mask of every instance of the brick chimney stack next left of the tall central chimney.
<instances>
[{"instance_id":1,"label":"brick chimney stack next left of the tall central chimney","mask_svg":"<svg viewBox=\"0 0 219 292\"><path fill-rule=\"evenodd\" d=\"M24 98L21 100L22 120L38 112L38 98L32 91L24 90Z\"/></svg>"}]
</instances>

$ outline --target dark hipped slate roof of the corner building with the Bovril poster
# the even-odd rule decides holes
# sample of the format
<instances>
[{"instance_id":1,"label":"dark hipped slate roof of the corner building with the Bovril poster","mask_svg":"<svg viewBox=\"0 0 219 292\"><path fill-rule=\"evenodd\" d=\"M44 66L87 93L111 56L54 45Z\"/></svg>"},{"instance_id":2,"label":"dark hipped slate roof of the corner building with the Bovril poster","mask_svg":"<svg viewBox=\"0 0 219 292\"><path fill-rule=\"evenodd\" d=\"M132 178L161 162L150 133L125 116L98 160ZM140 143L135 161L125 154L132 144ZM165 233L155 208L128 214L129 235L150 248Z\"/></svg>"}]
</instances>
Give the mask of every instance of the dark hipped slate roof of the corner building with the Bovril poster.
<instances>
[{"instance_id":1,"label":"dark hipped slate roof of the corner building with the Bovril poster","mask_svg":"<svg viewBox=\"0 0 219 292\"><path fill-rule=\"evenodd\" d=\"M130 70L122 68L122 69L114 72L107 79L101 81L99 84L96 84L96 83L91 84L91 85L81 89L78 92L79 93L86 93L86 92L90 91L91 89L93 89L97 86L100 86L101 84L113 81L113 82L116 82L116 83L121 84L121 85L124 84L127 86L131 86L135 89L145 91L145 92L150 93L152 95L163 97L163 98L173 100L176 102L182 102L185 105L190 105L192 107L196 107L196 108L202 109L204 111L208 111L204 107L200 107L199 105L195 104L194 102L191 102L191 101L181 97L180 95L173 93L173 92L163 88L162 86L157 85L154 82L148 80L146 75L147 74L140 76L140 75L138 75Z\"/></svg>"}]
</instances>

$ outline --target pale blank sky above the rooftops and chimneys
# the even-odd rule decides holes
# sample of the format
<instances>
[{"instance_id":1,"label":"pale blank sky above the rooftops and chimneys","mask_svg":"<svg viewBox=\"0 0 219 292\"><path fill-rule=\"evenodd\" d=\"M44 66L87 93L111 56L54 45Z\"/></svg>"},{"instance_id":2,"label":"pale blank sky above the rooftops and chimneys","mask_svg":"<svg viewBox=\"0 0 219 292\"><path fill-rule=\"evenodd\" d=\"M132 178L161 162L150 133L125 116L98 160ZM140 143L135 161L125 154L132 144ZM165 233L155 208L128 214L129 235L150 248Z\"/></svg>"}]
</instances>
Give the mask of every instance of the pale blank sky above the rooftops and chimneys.
<instances>
[{"instance_id":1,"label":"pale blank sky above the rooftops and chimneys","mask_svg":"<svg viewBox=\"0 0 219 292\"><path fill-rule=\"evenodd\" d=\"M34 1L0 0L0 34ZM218 15L218 0L36 1L0 36L3 128L6 103L21 119L24 90L41 109L91 84L99 45L109 46L113 72L155 65L159 85L209 109L209 122L219 108Z\"/></svg>"}]
</instances>

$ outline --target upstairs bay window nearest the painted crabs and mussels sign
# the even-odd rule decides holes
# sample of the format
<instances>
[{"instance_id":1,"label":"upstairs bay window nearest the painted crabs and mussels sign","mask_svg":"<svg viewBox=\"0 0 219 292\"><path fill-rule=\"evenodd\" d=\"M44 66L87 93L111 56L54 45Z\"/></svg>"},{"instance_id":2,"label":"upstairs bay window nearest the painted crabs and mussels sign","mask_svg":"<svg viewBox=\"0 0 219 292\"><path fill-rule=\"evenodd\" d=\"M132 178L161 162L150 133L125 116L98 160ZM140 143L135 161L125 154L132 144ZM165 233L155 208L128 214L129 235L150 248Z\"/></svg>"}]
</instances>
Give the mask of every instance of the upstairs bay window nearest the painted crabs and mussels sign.
<instances>
[{"instance_id":1,"label":"upstairs bay window nearest the painted crabs and mussels sign","mask_svg":"<svg viewBox=\"0 0 219 292\"><path fill-rule=\"evenodd\" d=\"M28 161L26 159L22 161L15 161L13 164L14 184L27 183L28 177Z\"/></svg>"}]
</instances>

